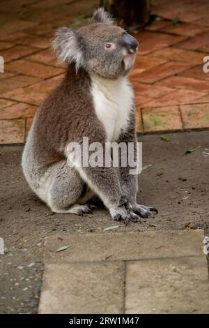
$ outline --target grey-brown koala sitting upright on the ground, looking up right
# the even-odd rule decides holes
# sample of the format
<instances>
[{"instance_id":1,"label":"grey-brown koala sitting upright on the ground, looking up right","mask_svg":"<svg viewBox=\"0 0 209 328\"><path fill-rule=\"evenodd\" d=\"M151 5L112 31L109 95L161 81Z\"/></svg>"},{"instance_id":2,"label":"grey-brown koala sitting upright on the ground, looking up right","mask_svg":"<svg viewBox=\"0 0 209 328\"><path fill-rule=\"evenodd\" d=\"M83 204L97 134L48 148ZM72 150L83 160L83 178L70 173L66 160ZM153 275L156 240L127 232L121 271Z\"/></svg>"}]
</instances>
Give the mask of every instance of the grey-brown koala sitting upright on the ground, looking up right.
<instances>
[{"instance_id":1,"label":"grey-brown koala sitting upright on the ground, looking up right","mask_svg":"<svg viewBox=\"0 0 209 328\"><path fill-rule=\"evenodd\" d=\"M91 213L98 197L113 220L137 222L151 216L157 210L137 204L137 175L129 174L128 165L68 163L68 144L82 144L83 137L102 145L136 144L134 94L127 75L137 40L99 8L85 27L58 29L53 45L67 70L33 119L22 155L26 181L55 213Z\"/></svg>"}]
</instances>

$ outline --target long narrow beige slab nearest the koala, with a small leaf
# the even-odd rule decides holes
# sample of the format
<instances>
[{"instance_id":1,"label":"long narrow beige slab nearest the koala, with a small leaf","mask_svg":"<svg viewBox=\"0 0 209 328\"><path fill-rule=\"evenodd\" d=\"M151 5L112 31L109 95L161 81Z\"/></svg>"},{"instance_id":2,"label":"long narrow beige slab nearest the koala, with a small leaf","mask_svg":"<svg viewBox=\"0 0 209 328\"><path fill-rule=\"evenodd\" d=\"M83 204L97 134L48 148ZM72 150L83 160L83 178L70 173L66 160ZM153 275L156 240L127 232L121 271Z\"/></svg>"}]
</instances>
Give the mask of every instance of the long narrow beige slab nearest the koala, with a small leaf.
<instances>
[{"instance_id":1,"label":"long narrow beige slab nearest the koala, with a small leaf","mask_svg":"<svg viewBox=\"0 0 209 328\"><path fill-rule=\"evenodd\" d=\"M54 235L45 239L45 262L201 256L203 238L203 230ZM56 253L61 246L69 247Z\"/></svg>"}]
</instances>

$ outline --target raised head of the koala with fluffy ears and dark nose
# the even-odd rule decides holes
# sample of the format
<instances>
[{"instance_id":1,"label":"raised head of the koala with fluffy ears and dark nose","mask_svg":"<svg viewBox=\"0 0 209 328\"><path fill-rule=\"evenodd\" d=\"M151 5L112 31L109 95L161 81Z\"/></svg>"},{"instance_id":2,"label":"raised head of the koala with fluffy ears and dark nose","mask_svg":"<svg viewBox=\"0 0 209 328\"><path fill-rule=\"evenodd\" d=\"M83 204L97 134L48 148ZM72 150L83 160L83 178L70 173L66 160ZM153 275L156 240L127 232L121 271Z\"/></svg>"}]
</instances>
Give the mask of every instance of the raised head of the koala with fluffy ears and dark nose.
<instances>
[{"instance_id":1,"label":"raised head of the koala with fluffy ears and dark nose","mask_svg":"<svg viewBox=\"0 0 209 328\"><path fill-rule=\"evenodd\" d=\"M63 27L56 31L54 48L60 61L75 63L76 70L84 68L89 74L116 79L126 75L136 57L138 43L121 27L116 26L109 13L99 8L91 23L76 31Z\"/></svg>"}]
</instances>

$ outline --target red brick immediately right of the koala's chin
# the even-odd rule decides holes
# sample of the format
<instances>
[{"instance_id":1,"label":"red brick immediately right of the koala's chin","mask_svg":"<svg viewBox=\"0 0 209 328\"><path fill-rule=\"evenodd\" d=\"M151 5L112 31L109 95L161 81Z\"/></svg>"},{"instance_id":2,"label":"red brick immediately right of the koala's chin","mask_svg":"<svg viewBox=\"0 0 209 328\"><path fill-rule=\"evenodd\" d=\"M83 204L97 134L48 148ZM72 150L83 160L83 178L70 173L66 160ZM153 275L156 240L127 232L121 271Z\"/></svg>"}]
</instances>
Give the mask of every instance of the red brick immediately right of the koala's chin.
<instances>
[{"instance_id":1,"label":"red brick immediately right of the koala's chin","mask_svg":"<svg viewBox=\"0 0 209 328\"><path fill-rule=\"evenodd\" d=\"M178 63L175 61L170 61L169 63L157 66L154 70L146 70L138 75L137 80L139 82L154 83L160 81L166 77L177 74L189 68L189 64Z\"/></svg>"}]
</instances>

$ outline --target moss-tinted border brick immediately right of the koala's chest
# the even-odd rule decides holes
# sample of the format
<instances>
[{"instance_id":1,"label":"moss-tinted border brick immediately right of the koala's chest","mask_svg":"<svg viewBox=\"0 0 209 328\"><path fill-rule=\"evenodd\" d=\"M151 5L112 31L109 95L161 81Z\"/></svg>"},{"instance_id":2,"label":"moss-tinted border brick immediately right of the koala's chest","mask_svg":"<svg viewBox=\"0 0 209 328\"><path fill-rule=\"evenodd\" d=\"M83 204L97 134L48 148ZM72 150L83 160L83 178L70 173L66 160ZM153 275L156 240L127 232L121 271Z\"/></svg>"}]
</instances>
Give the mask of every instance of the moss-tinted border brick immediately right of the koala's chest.
<instances>
[{"instance_id":1,"label":"moss-tinted border brick immediately right of the koala's chest","mask_svg":"<svg viewBox=\"0 0 209 328\"><path fill-rule=\"evenodd\" d=\"M142 110L144 132L180 131L183 129L177 106Z\"/></svg>"}]
</instances>

